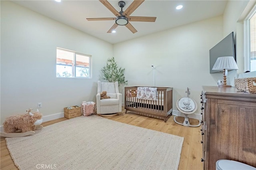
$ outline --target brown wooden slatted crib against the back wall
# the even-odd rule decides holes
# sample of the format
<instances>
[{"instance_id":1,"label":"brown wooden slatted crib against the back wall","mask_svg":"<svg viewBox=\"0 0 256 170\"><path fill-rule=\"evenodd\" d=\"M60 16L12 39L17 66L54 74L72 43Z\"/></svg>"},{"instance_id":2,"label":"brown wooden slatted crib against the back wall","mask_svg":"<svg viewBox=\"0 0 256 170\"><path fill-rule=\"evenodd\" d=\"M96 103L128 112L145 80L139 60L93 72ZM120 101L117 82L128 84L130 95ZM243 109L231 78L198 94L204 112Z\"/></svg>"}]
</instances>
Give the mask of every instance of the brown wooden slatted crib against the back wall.
<instances>
[{"instance_id":1,"label":"brown wooden slatted crib against the back wall","mask_svg":"<svg viewBox=\"0 0 256 170\"><path fill-rule=\"evenodd\" d=\"M164 119L172 115L172 87L157 87L157 99L145 100L137 98L138 87L124 87L124 109L138 115Z\"/></svg>"}]
</instances>

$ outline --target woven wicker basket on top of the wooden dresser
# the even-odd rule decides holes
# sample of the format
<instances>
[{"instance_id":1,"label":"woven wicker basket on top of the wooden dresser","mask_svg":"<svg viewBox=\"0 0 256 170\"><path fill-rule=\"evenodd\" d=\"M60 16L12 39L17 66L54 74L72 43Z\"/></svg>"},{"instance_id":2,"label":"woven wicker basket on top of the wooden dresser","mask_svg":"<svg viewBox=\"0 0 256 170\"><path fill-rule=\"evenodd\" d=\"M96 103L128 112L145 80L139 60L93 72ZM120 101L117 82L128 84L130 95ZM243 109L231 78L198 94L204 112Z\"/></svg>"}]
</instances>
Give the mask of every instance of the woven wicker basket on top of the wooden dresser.
<instances>
[{"instance_id":1,"label":"woven wicker basket on top of the wooden dresser","mask_svg":"<svg viewBox=\"0 0 256 170\"><path fill-rule=\"evenodd\" d=\"M256 77L235 79L235 87L247 93L256 93Z\"/></svg>"}]
</instances>

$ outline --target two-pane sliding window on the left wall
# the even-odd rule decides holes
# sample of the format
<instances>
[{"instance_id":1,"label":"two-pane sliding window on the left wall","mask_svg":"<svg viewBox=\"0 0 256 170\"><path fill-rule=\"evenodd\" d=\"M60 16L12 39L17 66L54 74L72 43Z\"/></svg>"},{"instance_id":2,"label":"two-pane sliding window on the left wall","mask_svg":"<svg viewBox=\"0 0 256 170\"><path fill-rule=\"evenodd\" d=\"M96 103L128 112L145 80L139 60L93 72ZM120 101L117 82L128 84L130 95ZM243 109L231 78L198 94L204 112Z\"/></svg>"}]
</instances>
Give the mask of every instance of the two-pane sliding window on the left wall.
<instances>
[{"instance_id":1,"label":"two-pane sliding window on the left wall","mask_svg":"<svg viewBox=\"0 0 256 170\"><path fill-rule=\"evenodd\" d=\"M56 77L91 78L91 56L57 48Z\"/></svg>"}]
</instances>

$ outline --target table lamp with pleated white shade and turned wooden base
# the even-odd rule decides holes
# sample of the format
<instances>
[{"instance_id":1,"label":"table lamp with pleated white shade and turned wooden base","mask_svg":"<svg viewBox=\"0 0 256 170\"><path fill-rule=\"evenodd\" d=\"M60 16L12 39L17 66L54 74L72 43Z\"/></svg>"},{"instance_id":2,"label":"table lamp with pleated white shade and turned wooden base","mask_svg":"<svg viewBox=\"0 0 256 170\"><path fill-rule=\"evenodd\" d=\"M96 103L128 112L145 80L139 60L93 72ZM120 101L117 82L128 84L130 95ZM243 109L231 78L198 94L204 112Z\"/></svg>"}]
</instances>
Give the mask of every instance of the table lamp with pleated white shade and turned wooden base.
<instances>
[{"instance_id":1,"label":"table lamp with pleated white shade and turned wooden base","mask_svg":"<svg viewBox=\"0 0 256 170\"><path fill-rule=\"evenodd\" d=\"M233 56L218 57L212 70L223 70L223 85L218 85L218 87L231 87L227 85L226 76L228 75L228 70L237 70L237 64Z\"/></svg>"}]
</instances>

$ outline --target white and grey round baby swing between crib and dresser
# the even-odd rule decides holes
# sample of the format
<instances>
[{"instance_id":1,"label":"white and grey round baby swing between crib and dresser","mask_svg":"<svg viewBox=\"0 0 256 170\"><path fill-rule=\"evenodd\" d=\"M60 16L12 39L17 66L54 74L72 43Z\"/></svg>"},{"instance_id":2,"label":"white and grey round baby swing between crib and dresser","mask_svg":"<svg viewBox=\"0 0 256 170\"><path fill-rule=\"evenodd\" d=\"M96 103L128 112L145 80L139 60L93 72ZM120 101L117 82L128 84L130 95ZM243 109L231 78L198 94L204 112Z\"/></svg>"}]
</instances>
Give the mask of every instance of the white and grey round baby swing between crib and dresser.
<instances>
[{"instance_id":1,"label":"white and grey round baby swing between crib and dresser","mask_svg":"<svg viewBox=\"0 0 256 170\"><path fill-rule=\"evenodd\" d=\"M184 114L184 122L179 123L178 121L176 121L176 116L174 116L174 122L178 123L179 125L183 125L185 127L199 127L201 125L199 120L198 120L199 121L198 125L190 125L188 121L188 115L196 112L197 104L196 104L196 101L188 97L190 95L190 91L188 88L186 93L187 93L187 97L182 97L176 102L177 109Z\"/></svg>"}]
</instances>

